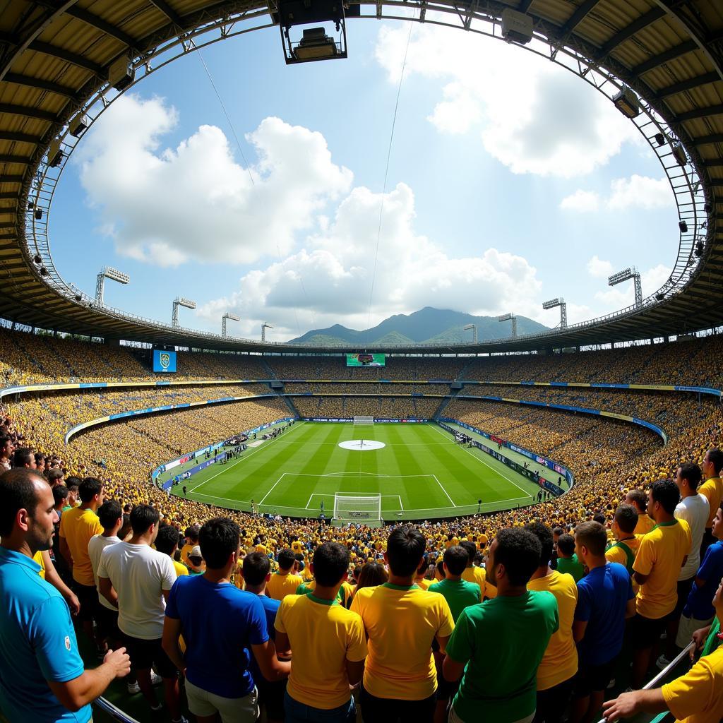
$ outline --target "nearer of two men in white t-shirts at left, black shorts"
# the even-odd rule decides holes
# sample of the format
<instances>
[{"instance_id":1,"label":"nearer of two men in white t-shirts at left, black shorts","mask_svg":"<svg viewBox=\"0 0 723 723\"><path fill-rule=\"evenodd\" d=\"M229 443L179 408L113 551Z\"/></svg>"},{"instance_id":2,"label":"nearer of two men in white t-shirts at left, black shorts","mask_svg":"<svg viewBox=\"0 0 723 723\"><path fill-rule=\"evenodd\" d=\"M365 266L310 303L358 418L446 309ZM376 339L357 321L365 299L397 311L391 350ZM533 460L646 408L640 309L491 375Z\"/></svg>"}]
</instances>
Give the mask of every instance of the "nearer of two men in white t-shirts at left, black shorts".
<instances>
[{"instance_id":1,"label":"nearer of two men in white t-shirts at left, black shorts","mask_svg":"<svg viewBox=\"0 0 723 723\"><path fill-rule=\"evenodd\" d=\"M151 547L158 534L158 510L150 505L134 507L129 542L108 545L100 555L100 593L118 608L118 627L131 656L138 685L152 711L159 711L151 684L151 667L163 678L163 693L174 723L181 716L178 672L161 647L163 617L176 570L168 555Z\"/></svg>"}]
</instances>

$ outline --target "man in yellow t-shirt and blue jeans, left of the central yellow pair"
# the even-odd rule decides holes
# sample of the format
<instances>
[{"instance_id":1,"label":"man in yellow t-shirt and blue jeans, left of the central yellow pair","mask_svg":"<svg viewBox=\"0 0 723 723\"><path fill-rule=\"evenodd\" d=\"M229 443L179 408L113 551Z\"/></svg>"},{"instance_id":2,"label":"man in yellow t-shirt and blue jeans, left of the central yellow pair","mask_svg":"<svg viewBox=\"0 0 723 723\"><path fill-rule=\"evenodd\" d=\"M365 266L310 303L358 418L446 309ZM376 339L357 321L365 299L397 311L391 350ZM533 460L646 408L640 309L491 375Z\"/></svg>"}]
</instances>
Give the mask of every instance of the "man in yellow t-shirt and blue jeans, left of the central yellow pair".
<instances>
[{"instance_id":1,"label":"man in yellow t-shirt and blue jeans, left of the central yellow pair","mask_svg":"<svg viewBox=\"0 0 723 723\"><path fill-rule=\"evenodd\" d=\"M354 719L349 687L361 680L367 641L359 615L335 602L348 566L349 553L342 544L317 547L314 592L287 595L276 613L276 649L291 649L294 655L284 698L287 720Z\"/></svg>"}]
</instances>

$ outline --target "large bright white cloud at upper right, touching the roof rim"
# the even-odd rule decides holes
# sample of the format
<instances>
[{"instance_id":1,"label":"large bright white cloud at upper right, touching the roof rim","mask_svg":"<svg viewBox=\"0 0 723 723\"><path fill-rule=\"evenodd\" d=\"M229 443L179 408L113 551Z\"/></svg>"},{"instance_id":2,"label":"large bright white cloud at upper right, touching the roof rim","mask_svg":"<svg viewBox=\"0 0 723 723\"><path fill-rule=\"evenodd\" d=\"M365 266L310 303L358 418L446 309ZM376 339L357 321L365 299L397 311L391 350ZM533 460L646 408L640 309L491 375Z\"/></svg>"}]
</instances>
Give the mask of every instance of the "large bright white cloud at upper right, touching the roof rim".
<instances>
[{"instance_id":1,"label":"large bright white cloud at upper right, touching the roof rim","mask_svg":"<svg viewBox=\"0 0 723 723\"><path fill-rule=\"evenodd\" d=\"M390 82L398 82L407 38L406 27L380 28L375 56ZM406 72L440 83L429 115L440 132L478 130L487 151L515 174L589 174L623 142L639 142L633 124L570 72L472 33L416 28Z\"/></svg>"}]
</instances>

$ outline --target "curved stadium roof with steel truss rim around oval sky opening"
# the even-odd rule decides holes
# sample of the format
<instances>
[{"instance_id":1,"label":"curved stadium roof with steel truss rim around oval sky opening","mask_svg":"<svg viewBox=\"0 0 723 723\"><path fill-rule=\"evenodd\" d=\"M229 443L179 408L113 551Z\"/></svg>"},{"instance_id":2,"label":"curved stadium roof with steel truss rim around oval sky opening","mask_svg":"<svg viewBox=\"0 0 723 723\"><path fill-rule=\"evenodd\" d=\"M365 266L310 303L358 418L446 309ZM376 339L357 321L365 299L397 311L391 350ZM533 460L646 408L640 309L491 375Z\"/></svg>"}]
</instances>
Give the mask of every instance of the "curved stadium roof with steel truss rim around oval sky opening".
<instances>
[{"instance_id":1,"label":"curved stadium roof with steel truss rim around oval sky opening","mask_svg":"<svg viewBox=\"0 0 723 723\"><path fill-rule=\"evenodd\" d=\"M192 49L189 38L201 27L215 27L223 37L232 22L242 18L265 18L268 25L272 6L275 10L273 2L253 0L0 0L1 317L40 328L167 345L331 351L222 338L94 304L94 299L60 278L46 237L47 211L57 181L57 174L48 172L54 160L48 158L48 147L58 138L60 147L66 147L63 139L72 140L69 119L91 99L107 104L101 96L109 89L108 69L114 61L127 57L137 67L145 64L148 68L149 59L163 43L174 42L187 51ZM552 59L567 53L568 59L576 59L578 74L588 82L597 77L596 85L601 85L604 71L633 88L649 111L636 124L649 140L656 135L662 140L651 140L651 144L659 146L656 152L685 221L681 226L687 228L681 229L673 276L640 307L542 335L476 346L387 347L389 351L560 348L723 325L722 3L380 0L372 4L350 0L347 14L409 20L401 7L416 8L416 20L453 17L463 30L474 31L478 22L493 22L497 36L497 19L511 7L531 15L535 37L549 43ZM658 121L651 124L646 120L650 117ZM683 163L675 156L678 141L686 153ZM680 158L681 150L677 153Z\"/></svg>"}]
</instances>

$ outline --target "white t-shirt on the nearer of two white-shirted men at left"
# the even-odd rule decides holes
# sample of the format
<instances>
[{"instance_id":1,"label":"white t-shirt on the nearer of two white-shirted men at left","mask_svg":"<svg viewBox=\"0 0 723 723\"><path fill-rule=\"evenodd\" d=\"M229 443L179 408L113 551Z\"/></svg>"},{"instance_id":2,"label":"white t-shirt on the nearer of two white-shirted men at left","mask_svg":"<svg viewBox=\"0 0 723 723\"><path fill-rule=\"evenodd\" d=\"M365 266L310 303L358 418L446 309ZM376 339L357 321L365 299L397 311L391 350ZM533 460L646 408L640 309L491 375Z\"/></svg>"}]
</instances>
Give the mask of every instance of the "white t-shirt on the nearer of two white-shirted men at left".
<instances>
[{"instance_id":1,"label":"white t-shirt on the nearer of two white-shirted men at left","mask_svg":"<svg viewBox=\"0 0 723 723\"><path fill-rule=\"evenodd\" d=\"M109 578L118 593L121 632L141 640L163 636L163 591L176 582L174 563L168 555L147 544L112 544L100 555L98 577Z\"/></svg>"}]
</instances>

